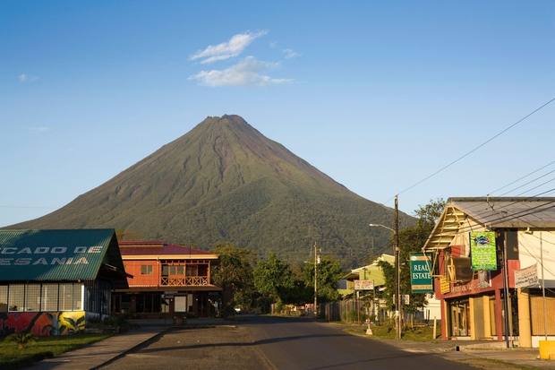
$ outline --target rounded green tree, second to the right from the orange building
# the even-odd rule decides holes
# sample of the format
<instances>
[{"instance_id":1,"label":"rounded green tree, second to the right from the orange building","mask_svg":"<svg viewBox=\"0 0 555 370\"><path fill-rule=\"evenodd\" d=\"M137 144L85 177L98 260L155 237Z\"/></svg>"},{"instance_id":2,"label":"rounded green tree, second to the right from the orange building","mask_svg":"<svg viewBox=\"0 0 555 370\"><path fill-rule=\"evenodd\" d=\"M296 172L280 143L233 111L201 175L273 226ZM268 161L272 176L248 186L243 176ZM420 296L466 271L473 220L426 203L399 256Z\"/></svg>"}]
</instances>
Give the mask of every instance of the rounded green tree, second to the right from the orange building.
<instances>
[{"instance_id":1,"label":"rounded green tree, second to the right from the orange building","mask_svg":"<svg viewBox=\"0 0 555 370\"><path fill-rule=\"evenodd\" d=\"M254 269L254 287L273 302L295 303L295 278L289 265L270 254L268 262L259 262Z\"/></svg>"}]
</instances>

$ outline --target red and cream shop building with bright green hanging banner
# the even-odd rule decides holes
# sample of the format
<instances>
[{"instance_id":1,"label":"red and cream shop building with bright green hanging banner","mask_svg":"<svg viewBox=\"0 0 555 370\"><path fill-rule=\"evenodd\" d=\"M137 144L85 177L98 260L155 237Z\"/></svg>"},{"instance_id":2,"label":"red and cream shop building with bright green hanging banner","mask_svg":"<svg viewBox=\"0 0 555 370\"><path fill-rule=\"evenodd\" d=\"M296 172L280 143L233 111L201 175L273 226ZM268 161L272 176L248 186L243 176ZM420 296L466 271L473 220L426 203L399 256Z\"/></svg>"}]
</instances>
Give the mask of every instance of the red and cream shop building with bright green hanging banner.
<instances>
[{"instance_id":1,"label":"red and cream shop building with bright green hanging banner","mask_svg":"<svg viewBox=\"0 0 555 370\"><path fill-rule=\"evenodd\" d=\"M441 336L555 336L555 198L450 198L423 247L441 301Z\"/></svg>"}]
</instances>

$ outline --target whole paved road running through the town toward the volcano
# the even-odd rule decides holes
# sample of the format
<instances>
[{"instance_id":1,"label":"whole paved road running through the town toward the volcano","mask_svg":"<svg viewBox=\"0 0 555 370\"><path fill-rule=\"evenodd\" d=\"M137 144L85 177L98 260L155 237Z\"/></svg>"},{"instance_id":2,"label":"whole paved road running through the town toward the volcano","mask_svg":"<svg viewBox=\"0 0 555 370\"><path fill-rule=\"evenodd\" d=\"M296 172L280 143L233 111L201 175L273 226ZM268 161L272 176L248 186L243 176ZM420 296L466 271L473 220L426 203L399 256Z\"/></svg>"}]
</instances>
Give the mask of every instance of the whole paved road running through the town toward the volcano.
<instances>
[{"instance_id":1,"label":"whole paved road running through the town toward the volcano","mask_svg":"<svg viewBox=\"0 0 555 370\"><path fill-rule=\"evenodd\" d=\"M428 353L408 352L380 340L357 337L342 329L341 325L303 318L249 316L234 325L168 331L101 368L473 369Z\"/></svg>"}]
</instances>

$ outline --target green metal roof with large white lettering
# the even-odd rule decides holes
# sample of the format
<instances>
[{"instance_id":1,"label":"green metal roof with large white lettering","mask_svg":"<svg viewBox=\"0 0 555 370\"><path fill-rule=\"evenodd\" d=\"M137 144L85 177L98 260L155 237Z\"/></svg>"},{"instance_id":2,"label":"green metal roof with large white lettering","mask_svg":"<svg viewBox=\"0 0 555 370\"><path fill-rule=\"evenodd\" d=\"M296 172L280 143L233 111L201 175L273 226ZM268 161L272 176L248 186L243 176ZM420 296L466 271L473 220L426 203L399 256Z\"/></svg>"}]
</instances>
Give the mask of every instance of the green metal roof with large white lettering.
<instances>
[{"instance_id":1,"label":"green metal roof with large white lettering","mask_svg":"<svg viewBox=\"0 0 555 370\"><path fill-rule=\"evenodd\" d=\"M114 229L0 230L3 281L96 279L103 264L124 270Z\"/></svg>"}]
</instances>

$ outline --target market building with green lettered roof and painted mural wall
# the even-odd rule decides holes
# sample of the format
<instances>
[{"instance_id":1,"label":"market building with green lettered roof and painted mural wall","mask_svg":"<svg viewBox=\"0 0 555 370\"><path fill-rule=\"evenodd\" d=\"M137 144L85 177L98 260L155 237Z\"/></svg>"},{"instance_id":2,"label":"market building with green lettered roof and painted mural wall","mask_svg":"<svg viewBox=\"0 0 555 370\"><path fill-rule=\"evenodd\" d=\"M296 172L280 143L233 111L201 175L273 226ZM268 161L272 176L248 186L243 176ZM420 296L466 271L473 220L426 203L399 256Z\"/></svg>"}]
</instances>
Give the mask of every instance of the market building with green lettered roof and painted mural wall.
<instances>
[{"instance_id":1,"label":"market building with green lettered roof and painted mural wall","mask_svg":"<svg viewBox=\"0 0 555 370\"><path fill-rule=\"evenodd\" d=\"M81 331L127 277L114 229L0 230L0 336Z\"/></svg>"}]
</instances>

